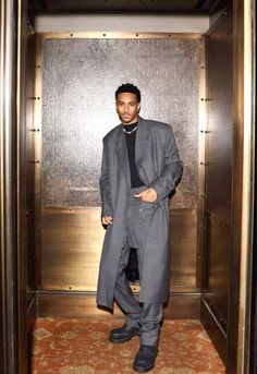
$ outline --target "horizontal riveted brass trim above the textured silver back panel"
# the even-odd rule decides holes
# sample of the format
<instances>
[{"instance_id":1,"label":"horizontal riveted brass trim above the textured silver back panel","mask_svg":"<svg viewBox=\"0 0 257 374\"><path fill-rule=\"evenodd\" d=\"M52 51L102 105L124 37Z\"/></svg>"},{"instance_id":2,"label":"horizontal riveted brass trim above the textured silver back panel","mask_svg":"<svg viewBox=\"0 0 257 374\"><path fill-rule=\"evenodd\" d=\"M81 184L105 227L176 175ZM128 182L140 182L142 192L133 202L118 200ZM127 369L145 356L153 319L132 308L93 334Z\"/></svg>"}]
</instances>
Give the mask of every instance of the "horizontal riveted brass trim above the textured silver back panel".
<instances>
[{"instance_id":1,"label":"horizontal riveted brass trim above the textured silver back panel","mask_svg":"<svg viewBox=\"0 0 257 374\"><path fill-rule=\"evenodd\" d=\"M201 34L199 33L109 33L109 32L74 32L74 33L37 33L39 37L46 39L52 38L85 38L85 39L136 39L136 38L150 38L150 39L163 39L163 38L185 38L185 39L199 39Z\"/></svg>"}]
</instances>

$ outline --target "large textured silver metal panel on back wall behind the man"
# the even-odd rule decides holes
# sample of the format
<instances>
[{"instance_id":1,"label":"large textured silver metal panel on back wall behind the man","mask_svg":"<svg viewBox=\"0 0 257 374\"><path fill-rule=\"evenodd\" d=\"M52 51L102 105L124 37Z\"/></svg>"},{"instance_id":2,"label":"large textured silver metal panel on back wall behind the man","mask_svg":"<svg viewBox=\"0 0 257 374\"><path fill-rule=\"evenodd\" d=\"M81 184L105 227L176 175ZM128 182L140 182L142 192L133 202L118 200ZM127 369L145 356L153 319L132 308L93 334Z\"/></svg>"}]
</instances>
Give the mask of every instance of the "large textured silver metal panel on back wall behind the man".
<instances>
[{"instance_id":1,"label":"large textured silver metal panel on back wall behind the man","mask_svg":"<svg viewBox=\"0 0 257 374\"><path fill-rule=\"evenodd\" d=\"M172 124L184 174L172 207L197 202L199 39L45 39L42 205L99 206L101 140L119 123L114 92L142 91L143 118Z\"/></svg>"}]
</instances>

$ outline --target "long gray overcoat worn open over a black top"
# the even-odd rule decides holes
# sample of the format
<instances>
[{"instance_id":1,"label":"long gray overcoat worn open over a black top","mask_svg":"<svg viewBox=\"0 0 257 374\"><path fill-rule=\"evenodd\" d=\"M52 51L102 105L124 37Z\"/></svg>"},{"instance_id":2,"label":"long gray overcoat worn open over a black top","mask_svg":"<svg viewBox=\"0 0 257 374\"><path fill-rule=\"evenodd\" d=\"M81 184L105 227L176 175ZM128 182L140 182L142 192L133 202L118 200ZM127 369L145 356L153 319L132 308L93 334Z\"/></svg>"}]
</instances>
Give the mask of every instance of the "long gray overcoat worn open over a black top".
<instances>
[{"instance_id":1,"label":"long gray overcoat worn open over a black top","mask_svg":"<svg viewBox=\"0 0 257 374\"><path fill-rule=\"evenodd\" d=\"M135 161L142 181L157 192L157 204L150 222L140 274L139 301L164 302L169 292L170 217L169 194L182 173L178 147L169 124L139 117ZM115 279L122 248L126 244L126 196L131 194L130 165L123 125L103 137L100 177L101 216L112 216L103 241L97 303L112 309Z\"/></svg>"}]
</instances>

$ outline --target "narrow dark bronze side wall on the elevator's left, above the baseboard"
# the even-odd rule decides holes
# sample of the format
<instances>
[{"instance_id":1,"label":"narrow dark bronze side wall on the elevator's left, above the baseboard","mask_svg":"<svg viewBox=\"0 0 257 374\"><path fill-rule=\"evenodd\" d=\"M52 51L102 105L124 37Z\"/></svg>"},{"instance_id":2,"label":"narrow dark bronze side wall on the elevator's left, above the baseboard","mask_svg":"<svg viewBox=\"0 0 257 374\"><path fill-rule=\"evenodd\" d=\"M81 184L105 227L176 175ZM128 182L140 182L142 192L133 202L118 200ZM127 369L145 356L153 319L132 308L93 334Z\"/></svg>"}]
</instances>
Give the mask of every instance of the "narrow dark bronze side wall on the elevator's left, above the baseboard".
<instances>
[{"instance_id":1,"label":"narrow dark bronze side wall on the elevator's left, above the baseboard","mask_svg":"<svg viewBox=\"0 0 257 374\"><path fill-rule=\"evenodd\" d=\"M26 224L24 227L26 236L26 278L27 278L27 302L29 304L30 298L34 295L37 289L36 280L36 245L35 245L35 227L36 227L36 209L35 209L35 137L36 129L34 128L34 99L35 96L35 70L36 70L36 45L35 35L32 34L29 28L26 31L26 43L24 48L27 48L27 53L24 56L25 61L23 61L23 68L26 70L26 75L24 74L23 84L25 87L21 87L22 92L26 95L25 107L21 107L21 110L25 110L25 114L22 118L21 123L21 149L26 152L25 159L21 157L21 179L23 183L24 195L20 196L25 200L25 217ZM23 99L21 100L23 104ZM23 156L23 154L21 155ZM25 165L22 165L22 164ZM24 214L24 213L23 213Z\"/></svg>"}]
</instances>

